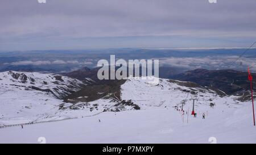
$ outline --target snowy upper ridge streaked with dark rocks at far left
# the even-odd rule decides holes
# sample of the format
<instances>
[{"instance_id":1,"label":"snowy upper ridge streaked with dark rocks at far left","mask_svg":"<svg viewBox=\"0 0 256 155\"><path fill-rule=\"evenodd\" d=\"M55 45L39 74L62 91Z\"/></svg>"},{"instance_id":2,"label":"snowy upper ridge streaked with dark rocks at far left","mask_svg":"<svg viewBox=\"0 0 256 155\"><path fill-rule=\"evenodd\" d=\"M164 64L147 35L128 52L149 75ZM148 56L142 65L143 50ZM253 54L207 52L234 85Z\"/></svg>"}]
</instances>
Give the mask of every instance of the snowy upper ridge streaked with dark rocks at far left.
<instances>
[{"instance_id":1,"label":"snowy upper ridge streaked with dark rocks at far left","mask_svg":"<svg viewBox=\"0 0 256 155\"><path fill-rule=\"evenodd\" d=\"M84 83L74 78L36 72L2 72L0 80L3 87L11 90L38 90L59 99L84 87Z\"/></svg>"}]
</instances>

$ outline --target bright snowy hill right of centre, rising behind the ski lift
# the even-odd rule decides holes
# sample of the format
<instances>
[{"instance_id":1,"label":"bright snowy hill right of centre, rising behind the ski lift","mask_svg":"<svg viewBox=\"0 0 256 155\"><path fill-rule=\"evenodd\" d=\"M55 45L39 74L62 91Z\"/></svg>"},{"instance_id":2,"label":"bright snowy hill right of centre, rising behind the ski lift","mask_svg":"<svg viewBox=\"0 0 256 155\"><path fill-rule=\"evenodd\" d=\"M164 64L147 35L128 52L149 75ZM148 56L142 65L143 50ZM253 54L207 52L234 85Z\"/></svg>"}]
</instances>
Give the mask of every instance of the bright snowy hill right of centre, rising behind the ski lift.
<instances>
[{"instance_id":1,"label":"bright snowy hill right of centre, rising behind the ski lift","mask_svg":"<svg viewBox=\"0 0 256 155\"><path fill-rule=\"evenodd\" d=\"M221 97L216 91L195 85L192 82L175 81L170 79L159 79L159 83L151 83L151 80L141 78L128 78L127 82L121 86L122 99L131 99L142 109L162 107L173 108L181 107L184 103L184 109L192 107L192 100L195 95L198 101L195 108L207 110L210 103L215 104L219 110L223 108L241 107L244 102L236 100L233 96ZM156 81L156 80L155 80Z\"/></svg>"}]
</instances>

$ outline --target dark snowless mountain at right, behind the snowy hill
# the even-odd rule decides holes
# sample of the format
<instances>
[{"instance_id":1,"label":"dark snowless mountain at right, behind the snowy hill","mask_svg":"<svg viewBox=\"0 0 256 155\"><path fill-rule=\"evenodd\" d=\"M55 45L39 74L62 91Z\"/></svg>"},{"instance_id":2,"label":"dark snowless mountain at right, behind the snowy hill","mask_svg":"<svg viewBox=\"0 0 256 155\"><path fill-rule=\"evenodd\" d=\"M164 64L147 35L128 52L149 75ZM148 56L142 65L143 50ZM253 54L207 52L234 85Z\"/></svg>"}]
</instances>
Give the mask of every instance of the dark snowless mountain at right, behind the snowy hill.
<instances>
[{"instance_id":1,"label":"dark snowless mountain at right, behind the snowy hill","mask_svg":"<svg viewBox=\"0 0 256 155\"><path fill-rule=\"evenodd\" d=\"M250 89L250 82L247 79L247 72L236 70L207 70L195 69L187 72L169 76L168 78L179 79L181 81L196 82L201 86L214 87L224 91L228 95L241 94ZM255 73L252 73L256 77ZM256 82L254 81L255 85Z\"/></svg>"}]
</instances>

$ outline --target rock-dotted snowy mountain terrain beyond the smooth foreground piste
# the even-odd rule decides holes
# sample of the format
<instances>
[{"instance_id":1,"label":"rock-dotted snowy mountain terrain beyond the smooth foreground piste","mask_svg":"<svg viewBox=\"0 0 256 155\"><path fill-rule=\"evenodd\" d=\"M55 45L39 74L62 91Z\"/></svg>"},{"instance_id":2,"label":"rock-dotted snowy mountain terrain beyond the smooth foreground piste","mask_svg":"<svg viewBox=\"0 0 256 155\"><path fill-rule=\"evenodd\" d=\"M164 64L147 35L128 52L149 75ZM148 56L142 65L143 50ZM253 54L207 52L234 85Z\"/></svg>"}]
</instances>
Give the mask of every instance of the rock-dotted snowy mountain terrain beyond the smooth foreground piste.
<instances>
[{"instance_id":1,"label":"rock-dotted snowy mountain terrain beyond the smooth foreground piste","mask_svg":"<svg viewBox=\"0 0 256 155\"><path fill-rule=\"evenodd\" d=\"M56 74L9 71L0 73L0 83L1 124L77 118L104 111L179 110L182 104L186 109L195 95L199 99L196 108L205 110L242 104L221 91L171 79L132 77L85 86L77 79Z\"/></svg>"}]
</instances>

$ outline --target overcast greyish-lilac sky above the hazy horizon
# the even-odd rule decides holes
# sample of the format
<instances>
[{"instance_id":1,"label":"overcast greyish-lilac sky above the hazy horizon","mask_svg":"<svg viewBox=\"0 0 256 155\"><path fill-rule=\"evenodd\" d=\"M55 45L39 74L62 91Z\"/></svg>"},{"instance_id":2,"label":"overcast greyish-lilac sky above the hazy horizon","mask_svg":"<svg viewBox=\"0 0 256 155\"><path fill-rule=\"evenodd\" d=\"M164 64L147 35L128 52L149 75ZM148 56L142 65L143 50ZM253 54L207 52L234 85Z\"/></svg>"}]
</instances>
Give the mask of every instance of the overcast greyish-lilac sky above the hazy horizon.
<instances>
[{"instance_id":1,"label":"overcast greyish-lilac sky above the hazy horizon","mask_svg":"<svg viewBox=\"0 0 256 155\"><path fill-rule=\"evenodd\" d=\"M255 0L0 0L0 51L248 47Z\"/></svg>"}]
</instances>

